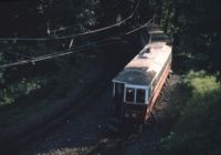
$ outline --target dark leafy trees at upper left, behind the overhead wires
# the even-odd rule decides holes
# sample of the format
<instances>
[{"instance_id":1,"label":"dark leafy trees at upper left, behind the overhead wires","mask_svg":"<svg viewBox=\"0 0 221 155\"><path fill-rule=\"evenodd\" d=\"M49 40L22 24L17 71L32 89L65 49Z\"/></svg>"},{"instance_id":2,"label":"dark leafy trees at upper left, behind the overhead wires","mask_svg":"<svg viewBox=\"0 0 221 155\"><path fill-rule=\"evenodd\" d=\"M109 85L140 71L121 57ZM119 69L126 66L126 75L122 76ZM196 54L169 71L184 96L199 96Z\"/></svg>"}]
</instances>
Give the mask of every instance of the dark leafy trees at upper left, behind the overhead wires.
<instances>
[{"instance_id":1,"label":"dark leafy trees at upper left, behind the overhead wires","mask_svg":"<svg viewBox=\"0 0 221 155\"><path fill-rule=\"evenodd\" d=\"M96 24L95 10L98 0L38 0L21 1L12 6L2 3L0 16L9 19L2 22L1 37L50 37L66 35L87 31ZM15 9L17 8L17 9ZM14 18L15 16L15 18ZM13 22L13 23L12 23ZM29 23L29 24L27 24ZM69 27L65 28L64 27ZM55 33L51 30L59 29ZM60 31L60 29L62 29ZM84 42L83 42L84 43ZM74 39L74 45L82 41ZM70 45L70 40L25 42L0 41L0 64L17 62L32 56L60 51ZM84 55L84 54L82 54ZM82 56L83 58L83 56ZM10 69L0 69L0 106L14 104L20 100L30 97L33 101L46 93L64 96L71 87L70 83L76 81L83 71L77 69L82 63L78 54L69 60L52 60L27 64ZM49 92L48 92L49 91Z\"/></svg>"}]
</instances>

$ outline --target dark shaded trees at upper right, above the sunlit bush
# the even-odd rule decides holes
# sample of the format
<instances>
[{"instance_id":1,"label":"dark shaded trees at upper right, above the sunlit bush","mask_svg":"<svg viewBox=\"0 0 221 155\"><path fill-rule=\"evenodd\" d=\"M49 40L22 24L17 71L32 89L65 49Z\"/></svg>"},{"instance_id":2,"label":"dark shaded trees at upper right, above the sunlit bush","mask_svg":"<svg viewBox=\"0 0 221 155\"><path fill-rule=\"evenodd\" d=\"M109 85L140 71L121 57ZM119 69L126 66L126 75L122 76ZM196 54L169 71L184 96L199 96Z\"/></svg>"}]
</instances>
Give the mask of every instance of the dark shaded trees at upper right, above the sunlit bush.
<instances>
[{"instance_id":1,"label":"dark shaded trees at upper right, above the sunlit bush","mask_svg":"<svg viewBox=\"0 0 221 155\"><path fill-rule=\"evenodd\" d=\"M175 39L176 65L182 64L178 70L221 71L219 1L160 0L159 6L160 24ZM180 56L180 53L191 53L194 59Z\"/></svg>"}]
</instances>

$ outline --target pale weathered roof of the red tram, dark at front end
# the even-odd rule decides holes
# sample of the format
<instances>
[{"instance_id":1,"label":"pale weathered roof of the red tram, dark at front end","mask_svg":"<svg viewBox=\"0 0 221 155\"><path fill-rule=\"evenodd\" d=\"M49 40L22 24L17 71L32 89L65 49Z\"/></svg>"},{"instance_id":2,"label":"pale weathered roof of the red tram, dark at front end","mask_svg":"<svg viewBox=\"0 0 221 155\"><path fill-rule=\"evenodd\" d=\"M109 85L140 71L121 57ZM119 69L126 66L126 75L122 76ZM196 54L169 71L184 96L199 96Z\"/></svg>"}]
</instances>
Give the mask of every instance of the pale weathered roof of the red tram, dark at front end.
<instances>
[{"instance_id":1,"label":"pale weathered roof of the red tram, dark at front end","mask_svg":"<svg viewBox=\"0 0 221 155\"><path fill-rule=\"evenodd\" d=\"M149 34L165 35L162 31L156 29L150 30ZM167 41L152 40L113 79L113 82L148 86L160 72L170 53L171 46L167 45Z\"/></svg>"}]
</instances>

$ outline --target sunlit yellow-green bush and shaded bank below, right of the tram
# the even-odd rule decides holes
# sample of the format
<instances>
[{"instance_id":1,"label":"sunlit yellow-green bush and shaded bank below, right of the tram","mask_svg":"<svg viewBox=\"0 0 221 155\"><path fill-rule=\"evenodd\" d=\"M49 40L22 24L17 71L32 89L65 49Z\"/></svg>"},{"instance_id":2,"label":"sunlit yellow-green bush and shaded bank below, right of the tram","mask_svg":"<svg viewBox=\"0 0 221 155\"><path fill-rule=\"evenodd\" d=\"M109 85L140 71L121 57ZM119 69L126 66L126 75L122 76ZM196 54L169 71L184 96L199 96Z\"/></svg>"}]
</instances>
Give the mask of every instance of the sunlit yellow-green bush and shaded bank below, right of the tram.
<instances>
[{"instance_id":1,"label":"sunlit yellow-green bush and shaded bank below, right of the tram","mask_svg":"<svg viewBox=\"0 0 221 155\"><path fill-rule=\"evenodd\" d=\"M180 118L172 132L161 138L152 154L220 154L221 84L204 71L191 71L183 83L191 96L179 110Z\"/></svg>"}]
</instances>

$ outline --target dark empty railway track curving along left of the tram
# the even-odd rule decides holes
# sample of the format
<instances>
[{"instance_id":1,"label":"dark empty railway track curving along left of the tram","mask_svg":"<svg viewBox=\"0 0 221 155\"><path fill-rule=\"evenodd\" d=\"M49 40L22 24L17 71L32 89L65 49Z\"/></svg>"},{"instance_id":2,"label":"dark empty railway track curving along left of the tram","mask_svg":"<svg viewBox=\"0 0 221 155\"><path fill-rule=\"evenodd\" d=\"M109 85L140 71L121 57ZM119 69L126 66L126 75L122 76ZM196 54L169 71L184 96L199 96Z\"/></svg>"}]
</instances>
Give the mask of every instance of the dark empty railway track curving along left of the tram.
<instances>
[{"instance_id":1,"label":"dark empty railway track curving along left of the tram","mask_svg":"<svg viewBox=\"0 0 221 155\"><path fill-rule=\"evenodd\" d=\"M18 154L20 148L25 147L29 143L33 143L34 140L39 137L44 137L49 133L53 131L53 128L59 127L62 125L62 122L69 120L69 117L75 114L80 114L84 111L88 104L88 101L92 99L96 99L104 89L109 84L110 79L116 72L116 63L114 61L113 54L107 54L106 63L104 64L104 72L102 76L99 76L93 84L88 85L84 93L76 97L73 102L77 103L74 104L73 107L67 107L63 112L54 115L52 118L48 120L46 122L42 123L41 126L36 126L27 133L22 133L21 135L14 137L13 140L8 140L6 146L1 146L1 153L3 154ZM84 101L84 102L82 102ZM10 145L9 145L10 144Z\"/></svg>"}]
</instances>

